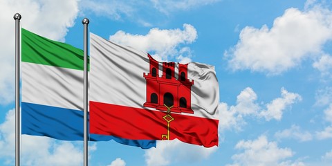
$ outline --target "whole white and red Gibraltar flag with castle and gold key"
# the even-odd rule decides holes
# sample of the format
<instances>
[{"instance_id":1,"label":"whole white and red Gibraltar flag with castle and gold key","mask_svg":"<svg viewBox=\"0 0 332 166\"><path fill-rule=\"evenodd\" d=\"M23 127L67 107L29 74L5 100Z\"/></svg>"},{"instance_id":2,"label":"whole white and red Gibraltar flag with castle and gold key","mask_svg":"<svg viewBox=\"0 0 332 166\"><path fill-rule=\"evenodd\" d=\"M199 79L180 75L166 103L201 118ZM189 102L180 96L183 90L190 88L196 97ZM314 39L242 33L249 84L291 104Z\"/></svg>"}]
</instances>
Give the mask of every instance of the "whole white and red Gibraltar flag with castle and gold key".
<instances>
[{"instance_id":1,"label":"whole white and red Gibraltar flag with castle and gold key","mask_svg":"<svg viewBox=\"0 0 332 166\"><path fill-rule=\"evenodd\" d=\"M218 146L213 66L157 62L90 33L90 133Z\"/></svg>"}]
</instances>

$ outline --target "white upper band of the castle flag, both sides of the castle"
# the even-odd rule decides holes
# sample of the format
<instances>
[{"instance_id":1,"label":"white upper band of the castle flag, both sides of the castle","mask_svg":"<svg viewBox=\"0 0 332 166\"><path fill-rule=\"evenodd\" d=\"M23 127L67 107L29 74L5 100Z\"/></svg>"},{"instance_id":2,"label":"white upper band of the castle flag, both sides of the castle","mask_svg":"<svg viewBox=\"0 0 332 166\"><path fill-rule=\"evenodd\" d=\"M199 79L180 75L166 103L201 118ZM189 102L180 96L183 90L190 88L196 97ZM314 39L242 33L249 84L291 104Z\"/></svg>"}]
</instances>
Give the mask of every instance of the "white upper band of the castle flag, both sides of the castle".
<instances>
[{"instance_id":1,"label":"white upper band of the castle flag, both sides of the castle","mask_svg":"<svg viewBox=\"0 0 332 166\"><path fill-rule=\"evenodd\" d=\"M147 53L118 46L93 33L90 37L90 100L147 109L143 107L147 86L143 73L149 73ZM194 80L191 93L194 115L186 115L219 119L219 86L214 68L190 63L188 78Z\"/></svg>"}]
</instances>

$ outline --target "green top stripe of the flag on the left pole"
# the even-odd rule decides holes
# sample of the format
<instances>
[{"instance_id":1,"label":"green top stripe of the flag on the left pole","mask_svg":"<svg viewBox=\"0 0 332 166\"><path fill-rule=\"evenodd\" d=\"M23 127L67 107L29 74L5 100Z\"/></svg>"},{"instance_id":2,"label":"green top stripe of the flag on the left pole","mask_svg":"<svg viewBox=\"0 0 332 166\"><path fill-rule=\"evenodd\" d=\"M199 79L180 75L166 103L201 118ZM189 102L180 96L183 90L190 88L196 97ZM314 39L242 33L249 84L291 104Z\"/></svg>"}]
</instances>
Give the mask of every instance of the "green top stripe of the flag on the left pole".
<instances>
[{"instance_id":1,"label":"green top stripe of the flag on the left pole","mask_svg":"<svg viewBox=\"0 0 332 166\"><path fill-rule=\"evenodd\" d=\"M21 30L22 62L84 70L83 50Z\"/></svg>"}]
</instances>

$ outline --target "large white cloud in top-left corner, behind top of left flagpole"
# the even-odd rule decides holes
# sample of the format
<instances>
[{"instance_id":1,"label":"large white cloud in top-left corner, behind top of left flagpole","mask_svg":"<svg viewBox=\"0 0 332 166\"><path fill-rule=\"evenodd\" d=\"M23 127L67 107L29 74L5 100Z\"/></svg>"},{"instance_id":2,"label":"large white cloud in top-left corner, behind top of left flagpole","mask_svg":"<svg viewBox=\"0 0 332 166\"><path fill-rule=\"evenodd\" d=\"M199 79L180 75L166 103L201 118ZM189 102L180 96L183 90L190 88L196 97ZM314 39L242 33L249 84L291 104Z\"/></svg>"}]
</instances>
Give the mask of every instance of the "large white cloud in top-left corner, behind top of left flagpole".
<instances>
[{"instance_id":1,"label":"large white cloud in top-left corner, behind top of left flagpole","mask_svg":"<svg viewBox=\"0 0 332 166\"><path fill-rule=\"evenodd\" d=\"M22 16L21 26L50 39L64 41L77 16L78 0L2 0L0 1L0 104L14 100L15 82L15 20ZM59 11L62 12L59 12Z\"/></svg>"}]
</instances>

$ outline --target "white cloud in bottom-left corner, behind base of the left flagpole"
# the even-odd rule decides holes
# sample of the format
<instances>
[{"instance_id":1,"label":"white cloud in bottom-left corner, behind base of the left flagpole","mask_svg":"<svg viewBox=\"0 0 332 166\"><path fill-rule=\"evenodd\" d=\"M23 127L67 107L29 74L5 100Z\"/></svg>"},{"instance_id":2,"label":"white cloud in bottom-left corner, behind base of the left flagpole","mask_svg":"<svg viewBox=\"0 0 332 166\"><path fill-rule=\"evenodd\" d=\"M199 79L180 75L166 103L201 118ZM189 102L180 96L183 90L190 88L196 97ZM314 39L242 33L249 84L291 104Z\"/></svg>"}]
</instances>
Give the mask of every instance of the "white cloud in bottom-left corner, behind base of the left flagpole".
<instances>
[{"instance_id":1,"label":"white cloud in bottom-left corner, behind base of the left flagpole","mask_svg":"<svg viewBox=\"0 0 332 166\"><path fill-rule=\"evenodd\" d=\"M15 110L0 124L0 158L12 165L15 158ZM82 151L71 142L40 136L21 136L22 165L82 165Z\"/></svg>"}]
</instances>

